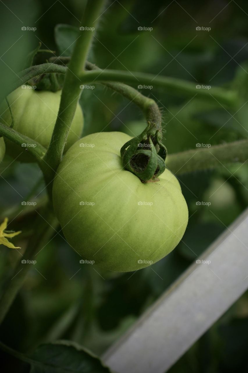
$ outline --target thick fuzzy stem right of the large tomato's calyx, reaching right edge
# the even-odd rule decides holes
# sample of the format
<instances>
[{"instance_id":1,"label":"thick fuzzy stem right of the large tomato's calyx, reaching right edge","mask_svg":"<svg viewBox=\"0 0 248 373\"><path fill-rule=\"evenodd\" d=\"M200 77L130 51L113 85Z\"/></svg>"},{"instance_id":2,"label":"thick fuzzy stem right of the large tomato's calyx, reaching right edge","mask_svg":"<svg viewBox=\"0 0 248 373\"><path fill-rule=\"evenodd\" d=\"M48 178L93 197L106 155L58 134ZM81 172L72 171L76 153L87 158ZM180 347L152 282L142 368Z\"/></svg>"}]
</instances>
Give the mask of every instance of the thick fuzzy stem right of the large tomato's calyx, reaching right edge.
<instances>
[{"instance_id":1,"label":"thick fuzzy stem right of the large tomato's calyx, reaching right edge","mask_svg":"<svg viewBox=\"0 0 248 373\"><path fill-rule=\"evenodd\" d=\"M174 153L168 155L166 160L166 166L175 175L223 167L230 163L244 163L248 160L248 140Z\"/></svg>"}]
</instances>

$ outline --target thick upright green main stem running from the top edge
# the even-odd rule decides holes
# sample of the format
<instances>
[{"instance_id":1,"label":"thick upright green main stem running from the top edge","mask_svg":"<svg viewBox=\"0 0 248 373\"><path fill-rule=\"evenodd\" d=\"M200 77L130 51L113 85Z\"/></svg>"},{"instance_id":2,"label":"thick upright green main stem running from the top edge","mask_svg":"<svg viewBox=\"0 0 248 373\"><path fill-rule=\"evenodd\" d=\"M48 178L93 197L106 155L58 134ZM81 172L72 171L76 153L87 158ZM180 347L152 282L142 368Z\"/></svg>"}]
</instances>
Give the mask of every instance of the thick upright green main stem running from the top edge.
<instances>
[{"instance_id":1,"label":"thick upright green main stem running from the top edge","mask_svg":"<svg viewBox=\"0 0 248 373\"><path fill-rule=\"evenodd\" d=\"M47 183L53 180L55 171L62 158L69 129L76 112L77 102L82 92L78 76L84 74L83 70L86 57L89 53L94 30L104 3L105 0L88 1L85 13L82 17L79 37L75 43L71 60L66 71L58 117L47 154L44 157L45 162L48 164L45 170L47 174Z\"/></svg>"}]
</instances>

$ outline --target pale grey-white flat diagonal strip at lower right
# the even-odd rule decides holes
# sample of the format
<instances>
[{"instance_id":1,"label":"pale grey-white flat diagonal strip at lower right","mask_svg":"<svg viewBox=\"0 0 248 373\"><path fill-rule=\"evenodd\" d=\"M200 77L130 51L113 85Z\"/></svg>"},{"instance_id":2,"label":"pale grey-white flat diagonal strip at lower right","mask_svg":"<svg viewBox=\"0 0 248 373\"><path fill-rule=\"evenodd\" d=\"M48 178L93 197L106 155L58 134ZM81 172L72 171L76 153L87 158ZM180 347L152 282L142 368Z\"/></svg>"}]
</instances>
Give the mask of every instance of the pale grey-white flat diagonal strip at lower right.
<instances>
[{"instance_id":1,"label":"pale grey-white flat diagonal strip at lower right","mask_svg":"<svg viewBox=\"0 0 248 373\"><path fill-rule=\"evenodd\" d=\"M114 372L166 372L247 290L248 209L199 260L104 354Z\"/></svg>"}]
</instances>

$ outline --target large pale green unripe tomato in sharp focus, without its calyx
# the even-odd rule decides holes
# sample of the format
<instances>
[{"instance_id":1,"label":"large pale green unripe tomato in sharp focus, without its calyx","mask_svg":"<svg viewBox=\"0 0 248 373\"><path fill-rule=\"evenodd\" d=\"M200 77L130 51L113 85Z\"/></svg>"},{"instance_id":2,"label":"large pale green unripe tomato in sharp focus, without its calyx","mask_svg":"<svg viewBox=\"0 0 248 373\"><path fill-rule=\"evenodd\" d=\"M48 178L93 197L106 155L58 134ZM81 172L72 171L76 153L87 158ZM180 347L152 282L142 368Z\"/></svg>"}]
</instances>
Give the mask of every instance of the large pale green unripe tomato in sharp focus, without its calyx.
<instances>
[{"instance_id":1,"label":"large pale green unripe tomato in sharp focus, without its calyx","mask_svg":"<svg viewBox=\"0 0 248 373\"><path fill-rule=\"evenodd\" d=\"M120 148L130 139L122 132L83 137L67 151L53 185L55 214L71 247L85 262L116 272L169 254L188 222L181 187L168 169L159 181L143 183L123 168Z\"/></svg>"}]
</instances>

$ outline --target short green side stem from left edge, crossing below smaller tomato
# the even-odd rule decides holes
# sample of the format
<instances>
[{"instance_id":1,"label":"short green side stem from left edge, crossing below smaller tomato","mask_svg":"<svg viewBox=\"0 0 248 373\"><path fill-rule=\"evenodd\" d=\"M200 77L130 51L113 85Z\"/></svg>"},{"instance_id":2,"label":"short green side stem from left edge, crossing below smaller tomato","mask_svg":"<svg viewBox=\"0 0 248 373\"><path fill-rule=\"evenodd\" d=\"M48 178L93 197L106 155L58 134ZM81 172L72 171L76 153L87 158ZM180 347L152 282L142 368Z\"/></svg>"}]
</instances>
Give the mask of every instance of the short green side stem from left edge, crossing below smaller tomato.
<instances>
[{"instance_id":1,"label":"short green side stem from left edge, crossing below smaller tomato","mask_svg":"<svg viewBox=\"0 0 248 373\"><path fill-rule=\"evenodd\" d=\"M41 158L46 152L46 149L41 144L39 144L39 142L20 134L13 128L10 128L3 123L0 123L0 135L6 137L12 142L15 142L15 144L20 145L23 149L26 148L29 153L35 156L38 162L41 161Z\"/></svg>"}]
</instances>

